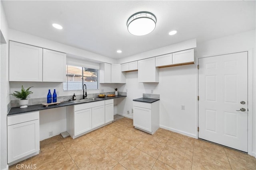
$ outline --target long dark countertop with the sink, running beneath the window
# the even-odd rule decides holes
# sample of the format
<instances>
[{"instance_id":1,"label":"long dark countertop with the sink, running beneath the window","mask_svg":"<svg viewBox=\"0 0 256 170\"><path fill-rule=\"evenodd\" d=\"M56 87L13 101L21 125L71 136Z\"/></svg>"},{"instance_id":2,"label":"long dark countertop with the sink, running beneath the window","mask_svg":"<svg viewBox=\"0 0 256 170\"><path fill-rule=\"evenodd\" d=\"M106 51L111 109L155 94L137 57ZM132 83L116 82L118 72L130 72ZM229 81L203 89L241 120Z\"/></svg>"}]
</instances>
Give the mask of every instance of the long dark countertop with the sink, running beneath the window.
<instances>
[{"instance_id":1,"label":"long dark countertop with the sink, running beneath the window","mask_svg":"<svg viewBox=\"0 0 256 170\"><path fill-rule=\"evenodd\" d=\"M126 96L118 95L115 97L105 97L105 98L102 98L102 100L123 98L123 97L126 97ZM98 102L98 101L102 101L102 100L96 100L96 101L90 101L90 102ZM89 103L89 102L85 102L85 103ZM57 108L57 107L72 106L72 105L76 105L76 104L84 104L84 103L73 103L73 102L66 101L66 102L61 102L58 105L49 105L48 107L43 106L42 104L30 105L30 106L28 106L26 108L22 108L22 109L20 109L20 107L12 107L10 109L9 113L7 114L7 116L31 112L31 111L39 111L39 110L45 110L45 109L53 109L53 108Z\"/></svg>"}]
</instances>

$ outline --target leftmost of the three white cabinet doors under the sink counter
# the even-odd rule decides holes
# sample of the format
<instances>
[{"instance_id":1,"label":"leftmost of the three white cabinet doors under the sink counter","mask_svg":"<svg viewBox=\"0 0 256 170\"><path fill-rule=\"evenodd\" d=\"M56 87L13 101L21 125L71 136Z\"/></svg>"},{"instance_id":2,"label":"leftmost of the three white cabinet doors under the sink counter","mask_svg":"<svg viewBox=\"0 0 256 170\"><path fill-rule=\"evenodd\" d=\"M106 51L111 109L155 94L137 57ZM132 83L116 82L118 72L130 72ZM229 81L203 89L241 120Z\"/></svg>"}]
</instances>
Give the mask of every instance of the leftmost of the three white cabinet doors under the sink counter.
<instances>
[{"instance_id":1,"label":"leftmost of the three white cabinet doors under the sink counter","mask_svg":"<svg viewBox=\"0 0 256 170\"><path fill-rule=\"evenodd\" d=\"M74 134L80 135L92 129L92 109L75 111Z\"/></svg>"}]
</instances>

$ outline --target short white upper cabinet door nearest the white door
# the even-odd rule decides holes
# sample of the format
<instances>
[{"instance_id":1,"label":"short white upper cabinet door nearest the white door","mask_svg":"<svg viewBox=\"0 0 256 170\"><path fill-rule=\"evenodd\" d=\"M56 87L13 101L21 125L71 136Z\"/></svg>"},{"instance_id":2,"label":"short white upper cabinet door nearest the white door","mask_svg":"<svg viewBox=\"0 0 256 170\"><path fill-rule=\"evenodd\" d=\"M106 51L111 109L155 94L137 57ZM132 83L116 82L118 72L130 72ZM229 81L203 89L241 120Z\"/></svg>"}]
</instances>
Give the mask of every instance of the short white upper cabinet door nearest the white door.
<instances>
[{"instance_id":1,"label":"short white upper cabinet door nearest the white door","mask_svg":"<svg viewBox=\"0 0 256 170\"><path fill-rule=\"evenodd\" d=\"M194 63L194 49L173 53L172 64L179 63Z\"/></svg>"}]
</instances>

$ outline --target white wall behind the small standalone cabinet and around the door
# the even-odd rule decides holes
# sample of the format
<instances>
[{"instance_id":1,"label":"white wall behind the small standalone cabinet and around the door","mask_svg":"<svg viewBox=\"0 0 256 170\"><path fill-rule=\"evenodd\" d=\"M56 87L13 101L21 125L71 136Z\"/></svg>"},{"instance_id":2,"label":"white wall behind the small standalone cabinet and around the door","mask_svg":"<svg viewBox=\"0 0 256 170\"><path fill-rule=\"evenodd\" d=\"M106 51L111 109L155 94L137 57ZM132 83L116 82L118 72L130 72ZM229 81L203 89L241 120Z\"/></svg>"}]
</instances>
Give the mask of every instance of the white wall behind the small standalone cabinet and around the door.
<instances>
[{"instance_id":1,"label":"white wall behind the small standalone cabinet and around the door","mask_svg":"<svg viewBox=\"0 0 256 170\"><path fill-rule=\"evenodd\" d=\"M213 39L197 44L195 50L196 62L198 57L209 57L213 55L222 55L227 53L235 53L241 51L252 51L252 69L249 72L252 82L249 86L253 89L253 109L250 112L252 115L252 134L250 139L251 152L255 156L256 150L256 60L255 60L255 30L239 33L236 35ZM151 51L154 54L154 51ZM157 50L159 52L159 50ZM166 51L164 51L166 53ZM146 53L144 53L146 54ZM136 55L141 56L141 55ZM119 60L120 63L134 61L134 56L124 60ZM127 114L127 110L132 109L132 99L142 97L142 93L160 94L160 127L170 129L178 133L197 137L198 126L198 73L197 64L174 66L159 69L159 83L138 83L138 72L126 73L126 84L118 85L120 91L126 92L126 99L119 101L117 111L127 117L132 117L132 113ZM250 94L249 94L250 96ZM185 110L181 110L181 105L185 105Z\"/></svg>"}]
</instances>

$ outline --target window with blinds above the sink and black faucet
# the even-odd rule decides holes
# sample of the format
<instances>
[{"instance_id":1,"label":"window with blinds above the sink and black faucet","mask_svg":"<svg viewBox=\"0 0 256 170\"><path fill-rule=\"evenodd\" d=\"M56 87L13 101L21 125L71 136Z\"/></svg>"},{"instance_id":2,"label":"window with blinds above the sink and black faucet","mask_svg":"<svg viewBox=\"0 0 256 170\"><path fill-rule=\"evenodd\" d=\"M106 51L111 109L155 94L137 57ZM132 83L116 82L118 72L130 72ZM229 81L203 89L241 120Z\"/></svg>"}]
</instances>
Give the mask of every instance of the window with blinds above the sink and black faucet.
<instances>
[{"instance_id":1,"label":"window with blinds above the sink and black faucet","mask_svg":"<svg viewBox=\"0 0 256 170\"><path fill-rule=\"evenodd\" d=\"M66 82L63 83L63 90L82 90L84 84L87 89L98 89L99 70L66 65Z\"/></svg>"}]
</instances>

